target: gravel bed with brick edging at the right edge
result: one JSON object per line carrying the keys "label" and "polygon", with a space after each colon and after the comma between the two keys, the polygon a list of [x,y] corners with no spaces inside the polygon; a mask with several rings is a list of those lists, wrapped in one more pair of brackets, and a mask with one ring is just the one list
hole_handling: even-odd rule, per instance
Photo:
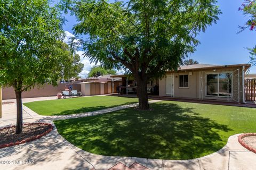
{"label": "gravel bed with brick edging at the right edge", "polygon": [[238,137],[239,143],[256,154],[256,133],[245,133]]}

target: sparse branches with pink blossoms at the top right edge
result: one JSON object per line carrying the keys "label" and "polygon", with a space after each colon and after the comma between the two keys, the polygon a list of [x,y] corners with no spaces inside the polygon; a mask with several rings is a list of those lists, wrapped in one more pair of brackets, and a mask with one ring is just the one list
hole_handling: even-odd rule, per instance
{"label": "sparse branches with pink blossoms at the top right edge", "polygon": [[[243,11],[244,15],[246,15],[249,20],[245,23],[244,26],[239,26],[241,31],[238,33],[244,31],[245,29],[250,29],[253,31],[256,28],[256,1],[255,0],[245,0],[245,2],[242,4],[241,7],[238,9],[239,11]],[[251,63],[253,65],[256,65],[256,46],[254,48],[247,48],[250,50],[251,54]]]}

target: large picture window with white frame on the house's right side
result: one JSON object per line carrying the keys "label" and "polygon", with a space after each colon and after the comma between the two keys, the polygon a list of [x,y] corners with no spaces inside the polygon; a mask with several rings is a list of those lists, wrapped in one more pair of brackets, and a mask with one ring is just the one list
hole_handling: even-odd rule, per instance
{"label": "large picture window with white frame on the house's right side", "polygon": [[207,96],[232,96],[232,73],[216,73],[206,75]]}

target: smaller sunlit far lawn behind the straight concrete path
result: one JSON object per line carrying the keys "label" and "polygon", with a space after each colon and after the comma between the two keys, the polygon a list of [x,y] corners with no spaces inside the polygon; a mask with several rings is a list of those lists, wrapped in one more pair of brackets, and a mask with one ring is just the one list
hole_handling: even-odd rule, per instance
{"label": "smaller sunlit far lawn behind the straight concrete path", "polygon": [[92,96],[80,98],[66,98],[60,100],[45,100],[25,103],[39,115],[69,115],[98,111],[105,108],[132,104],[138,102],[137,98],[115,96]]}

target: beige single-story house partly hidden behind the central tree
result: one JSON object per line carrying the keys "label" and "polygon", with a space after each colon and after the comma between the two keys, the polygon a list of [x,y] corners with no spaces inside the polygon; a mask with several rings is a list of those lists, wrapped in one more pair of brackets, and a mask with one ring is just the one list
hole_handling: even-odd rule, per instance
{"label": "beige single-story house partly hidden behind the central tree", "polygon": [[[178,71],[167,71],[162,79],[149,81],[147,88],[151,87],[152,94],[158,96],[242,103],[245,102],[245,72],[250,66],[250,64],[180,66]],[[132,85],[128,83],[131,80],[127,79],[127,75],[112,77],[121,77],[126,89],[136,86],[135,82]],[[126,90],[126,95],[128,94],[129,90]]]}

